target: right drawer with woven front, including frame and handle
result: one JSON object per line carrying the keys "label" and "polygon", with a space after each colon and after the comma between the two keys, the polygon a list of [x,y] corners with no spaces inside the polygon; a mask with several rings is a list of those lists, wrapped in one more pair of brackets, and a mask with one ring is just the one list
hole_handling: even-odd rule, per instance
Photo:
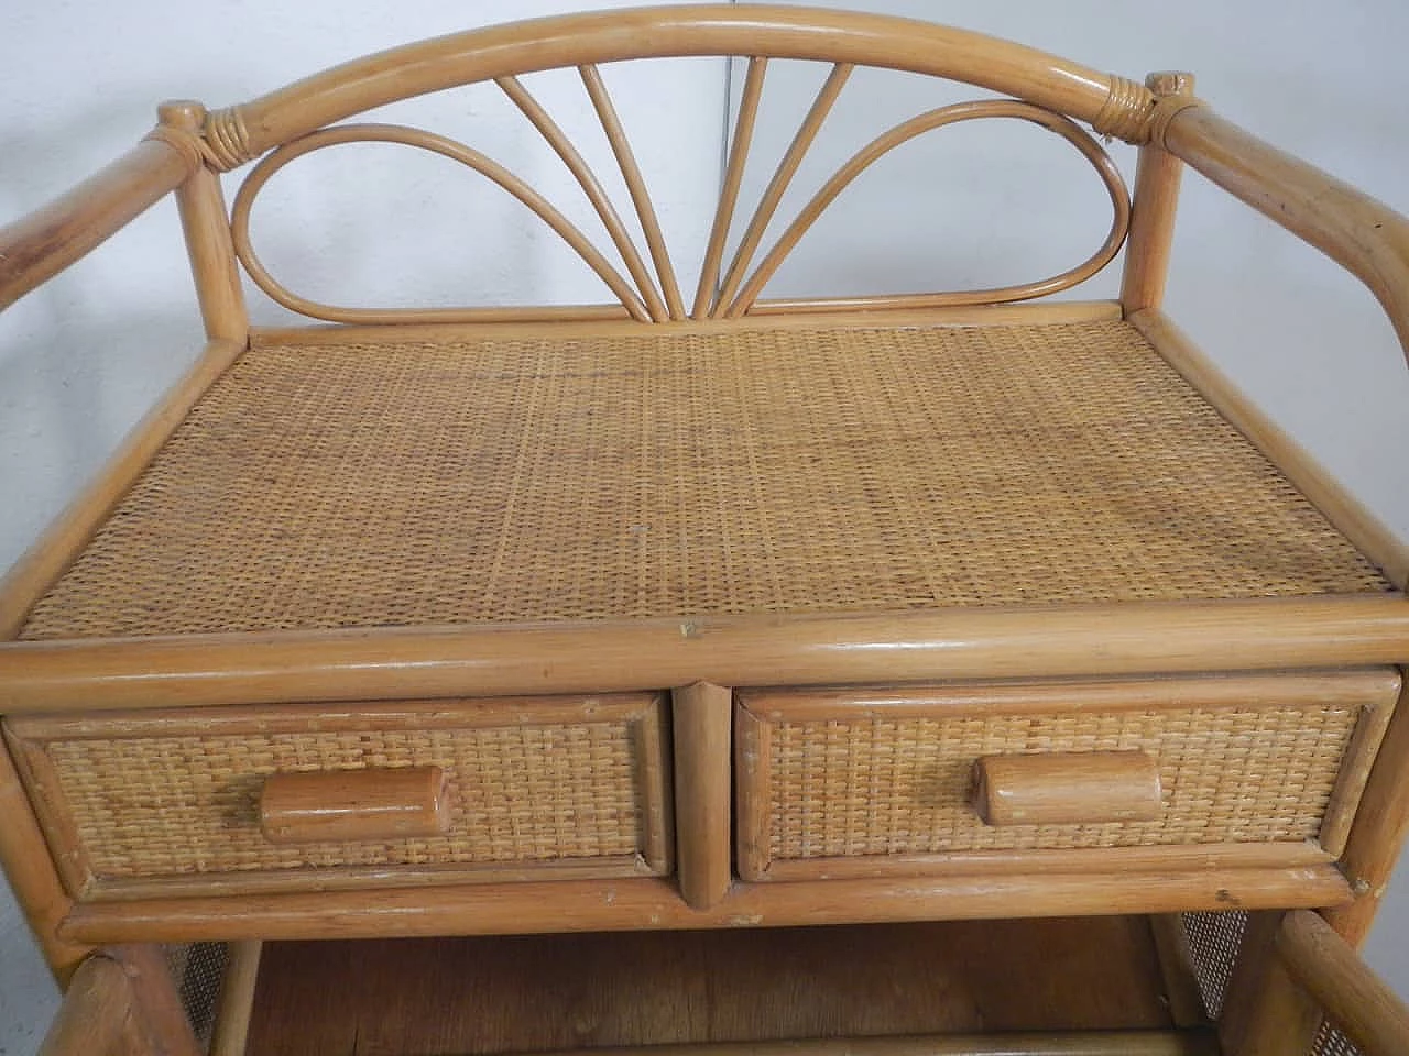
{"label": "right drawer with woven front, including frame and handle", "polygon": [[741,690],[748,880],[1326,862],[1392,670]]}

